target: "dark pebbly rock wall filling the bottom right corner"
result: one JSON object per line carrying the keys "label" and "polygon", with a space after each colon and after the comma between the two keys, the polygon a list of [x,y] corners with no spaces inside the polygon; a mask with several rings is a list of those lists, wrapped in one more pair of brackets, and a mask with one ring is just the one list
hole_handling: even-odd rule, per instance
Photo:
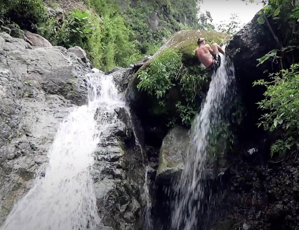
{"label": "dark pebbly rock wall filling the bottom right corner", "polygon": [[223,217],[215,226],[219,229],[298,229],[298,166],[298,158],[268,165],[232,165],[224,175],[228,190],[217,207],[222,209]]}

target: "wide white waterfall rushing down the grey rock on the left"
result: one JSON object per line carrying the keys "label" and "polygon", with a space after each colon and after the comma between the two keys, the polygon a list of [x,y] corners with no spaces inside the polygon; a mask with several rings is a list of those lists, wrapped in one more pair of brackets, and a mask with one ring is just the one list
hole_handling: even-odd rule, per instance
{"label": "wide white waterfall rushing down the grey rock on the left", "polygon": [[[61,123],[48,153],[45,177],[36,178],[1,230],[86,230],[100,224],[89,170],[100,135],[109,126],[107,111],[123,102],[111,76],[93,73],[86,77],[88,105],[74,108]],[[103,111],[100,122],[94,119],[99,107]]]}

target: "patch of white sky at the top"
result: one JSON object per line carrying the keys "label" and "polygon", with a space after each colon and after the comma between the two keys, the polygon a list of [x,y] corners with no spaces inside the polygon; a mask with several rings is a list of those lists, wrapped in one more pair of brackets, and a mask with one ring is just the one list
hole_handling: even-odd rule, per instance
{"label": "patch of white sky at the top", "polygon": [[[255,0],[256,2],[259,0]],[[254,15],[263,8],[262,3],[248,3],[241,0],[203,0],[200,4],[200,11],[210,11],[213,24],[219,24],[220,21],[229,20],[231,13],[237,13],[241,23],[246,24],[251,21]]]}

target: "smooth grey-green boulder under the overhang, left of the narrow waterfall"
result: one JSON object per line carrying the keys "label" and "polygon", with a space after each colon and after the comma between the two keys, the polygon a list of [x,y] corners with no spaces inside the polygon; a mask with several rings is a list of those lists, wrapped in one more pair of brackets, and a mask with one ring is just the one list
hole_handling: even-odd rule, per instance
{"label": "smooth grey-green boulder under the overhang, left of the narrow waterfall", "polygon": [[187,155],[189,129],[176,126],[164,137],[159,155],[157,177],[170,179],[184,168],[184,158]]}

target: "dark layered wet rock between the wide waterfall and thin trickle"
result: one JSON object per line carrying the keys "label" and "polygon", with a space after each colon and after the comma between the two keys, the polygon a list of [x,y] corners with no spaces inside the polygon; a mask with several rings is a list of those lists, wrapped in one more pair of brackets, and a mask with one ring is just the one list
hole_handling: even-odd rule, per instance
{"label": "dark layered wet rock between the wide waterfall and thin trickle", "polygon": [[144,200],[143,151],[135,137],[134,121],[124,107],[103,114],[109,127],[101,134],[96,150],[94,188],[103,224],[115,230],[142,229]]}

